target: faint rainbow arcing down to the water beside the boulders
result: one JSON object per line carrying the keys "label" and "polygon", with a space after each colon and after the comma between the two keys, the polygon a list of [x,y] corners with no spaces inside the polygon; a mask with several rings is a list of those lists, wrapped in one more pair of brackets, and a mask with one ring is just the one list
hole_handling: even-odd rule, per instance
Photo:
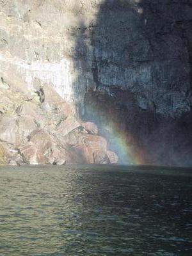
{"label": "faint rainbow arcing down to the water beside the boulders", "polygon": [[[108,104],[105,104],[106,100]],[[88,120],[102,124],[100,135],[108,139],[108,148],[116,153],[119,164],[148,163],[147,150],[138,147],[138,140],[133,134],[129,134],[126,129],[120,129],[122,117],[118,115],[118,111],[113,111],[113,100],[100,92],[90,91],[86,103]]]}

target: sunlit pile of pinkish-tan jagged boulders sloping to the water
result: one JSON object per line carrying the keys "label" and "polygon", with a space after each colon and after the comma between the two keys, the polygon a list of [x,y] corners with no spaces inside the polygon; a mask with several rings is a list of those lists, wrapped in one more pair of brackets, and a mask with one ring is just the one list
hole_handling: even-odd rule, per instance
{"label": "sunlit pile of pinkish-tan jagged boulders sloping to the water", "polygon": [[95,134],[97,125],[77,118],[74,104],[61,99],[51,85],[36,83],[41,97],[27,88],[14,97],[14,83],[0,90],[0,164],[114,163],[113,157],[104,161],[97,156],[108,155],[106,140]]}

